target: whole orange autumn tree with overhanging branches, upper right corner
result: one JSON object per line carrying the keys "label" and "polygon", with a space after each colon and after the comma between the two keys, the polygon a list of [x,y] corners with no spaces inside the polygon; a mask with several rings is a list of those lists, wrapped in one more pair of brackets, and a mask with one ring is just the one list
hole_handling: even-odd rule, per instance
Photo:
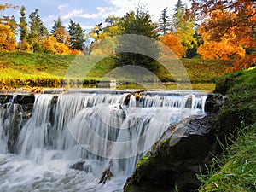
{"label": "whole orange autumn tree with overhanging branches, upper right corner", "polygon": [[[211,49],[211,44],[222,44],[220,49],[241,48],[253,50],[256,48],[256,6],[254,1],[246,0],[192,0],[192,9],[198,20],[203,20],[201,33],[205,44],[203,48]],[[225,43],[225,44],[224,44]],[[227,46],[228,45],[228,46]]]}

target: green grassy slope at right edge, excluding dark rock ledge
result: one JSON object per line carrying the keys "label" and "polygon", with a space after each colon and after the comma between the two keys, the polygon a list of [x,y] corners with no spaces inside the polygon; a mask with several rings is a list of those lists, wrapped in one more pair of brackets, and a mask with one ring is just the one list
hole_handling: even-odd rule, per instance
{"label": "green grassy slope at right edge, excluding dark rock ledge", "polygon": [[[216,91],[228,96],[218,114],[221,129],[228,129],[219,159],[212,160],[208,175],[200,175],[202,192],[256,190],[256,68],[230,73]],[[230,143],[231,144],[228,144]]]}

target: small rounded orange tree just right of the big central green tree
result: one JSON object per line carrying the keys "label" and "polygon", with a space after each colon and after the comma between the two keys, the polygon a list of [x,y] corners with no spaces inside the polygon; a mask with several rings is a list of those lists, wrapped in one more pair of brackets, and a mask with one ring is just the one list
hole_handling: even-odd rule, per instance
{"label": "small rounded orange tree just right of the big central green tree", "polygon": [[[166,46],[169,49],[172,49],[172,51],[179,58],[181,58],[185,54],[185,50],[181,43],[181,39],[179,37],[177,37],[177,35],[175,35],[175,34],[169,33],[169,34],[162,36],[162,38],[160,38],[160,42],[163,44],[166,44]],[[164,52],[162,55],[163,57],[168,56],[168,55],[166,55],[166,53],[168,53],[168,50],[165,50],[165,48],[164,48],[163,52]]]}

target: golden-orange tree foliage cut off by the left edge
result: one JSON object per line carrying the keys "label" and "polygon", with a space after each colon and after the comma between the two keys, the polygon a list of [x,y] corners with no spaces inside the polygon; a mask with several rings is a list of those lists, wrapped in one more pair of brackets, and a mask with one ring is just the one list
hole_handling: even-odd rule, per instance
{"label": "golden-orange tree foliage cut off by the left edge", "polygon": [[17,42],[10,26],[0,23],[0,50],[15,50]]}

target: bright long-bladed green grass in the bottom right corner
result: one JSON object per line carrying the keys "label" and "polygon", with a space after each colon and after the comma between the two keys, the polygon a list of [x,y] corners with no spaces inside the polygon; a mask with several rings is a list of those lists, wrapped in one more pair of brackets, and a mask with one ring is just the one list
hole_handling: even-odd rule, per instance
{"label": "bright long-bladed green grass in the bottom right corner", "polygon": [[[199,176],[201,192],[256,191],[256,124],[242,127],[236,142],[224,148],[221,160],[214,161],[218,171]],[[216,169],[216,168],[215,168]]]}

